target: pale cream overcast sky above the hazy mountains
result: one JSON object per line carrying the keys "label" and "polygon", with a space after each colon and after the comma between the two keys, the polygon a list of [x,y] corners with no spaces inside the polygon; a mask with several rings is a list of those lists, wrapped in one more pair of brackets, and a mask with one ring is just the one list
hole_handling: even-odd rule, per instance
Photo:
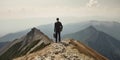
{"label": "pale cream overcast sky above the hazy mountains", "polygon": [[62,17],[119,18],[119,13],[120,0],[0,0],[0,36],[53,23],[56,17],[66,24],[82,20]]}

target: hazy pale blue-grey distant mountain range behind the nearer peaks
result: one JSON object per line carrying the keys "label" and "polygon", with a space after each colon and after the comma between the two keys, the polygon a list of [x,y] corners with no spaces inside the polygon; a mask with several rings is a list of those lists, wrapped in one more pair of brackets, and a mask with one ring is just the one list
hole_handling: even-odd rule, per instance
{"label": "hazy pale blue-grey distant mountain range behind the nearer peaks", "polygon": [[[88,21],[67,24],[63,27],[62,35],[75,33],[91,25],[94,26],[96,29],[103,31],[120,40],[120,23],[112,21]],[[42,25],[38,26],[37,28],[44,32],[48,37],[53,38],[54,24]],[[29,31],[30,29],[27,29],[24,31],[7,34],[0,38],[0,42],[12,41],[16,38],[22,37]]]}

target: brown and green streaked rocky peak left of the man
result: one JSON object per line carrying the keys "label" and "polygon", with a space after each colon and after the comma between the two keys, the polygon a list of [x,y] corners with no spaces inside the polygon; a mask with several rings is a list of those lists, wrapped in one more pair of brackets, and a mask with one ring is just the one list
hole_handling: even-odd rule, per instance
{"label": "brown and green streaked rocky peak left of the man", "polygon": [[44,48],[52,42],[40,30],[33,28],[25,36],[12,41],[1,49],[0,60],[11,60]]}

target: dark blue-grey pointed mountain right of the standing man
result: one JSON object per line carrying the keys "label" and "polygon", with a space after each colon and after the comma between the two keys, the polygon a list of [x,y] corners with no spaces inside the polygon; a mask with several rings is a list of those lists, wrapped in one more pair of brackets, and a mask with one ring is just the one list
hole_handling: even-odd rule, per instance
{"label": "dark blue-grey pointed mountain right of the standing man", "polygon": [[87,44],[110,60],[120,60],[120,41],[90,26],[82,31],[65,35]]}

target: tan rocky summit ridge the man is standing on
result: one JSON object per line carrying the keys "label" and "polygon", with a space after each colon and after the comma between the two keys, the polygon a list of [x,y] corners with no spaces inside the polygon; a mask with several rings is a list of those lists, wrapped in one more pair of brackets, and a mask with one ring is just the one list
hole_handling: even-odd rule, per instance
{"label": "tan rocky summit ridge the man is standing on", "polygon": [[108,60],[91,48],[73,39],[52,43],[43,50],[14,60]]}

